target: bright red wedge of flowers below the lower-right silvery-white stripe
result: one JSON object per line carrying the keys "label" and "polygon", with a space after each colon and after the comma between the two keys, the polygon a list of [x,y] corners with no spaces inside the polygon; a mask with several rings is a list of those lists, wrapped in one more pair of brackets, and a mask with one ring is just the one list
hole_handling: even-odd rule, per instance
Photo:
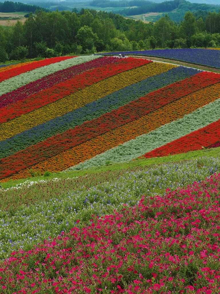
{"label": "bright red wedge of flowers below the lower-right silvery-white stripe", "polygon": [[201,150],[220,137],[220,120],[144,154],[144,157],[167,156]]}

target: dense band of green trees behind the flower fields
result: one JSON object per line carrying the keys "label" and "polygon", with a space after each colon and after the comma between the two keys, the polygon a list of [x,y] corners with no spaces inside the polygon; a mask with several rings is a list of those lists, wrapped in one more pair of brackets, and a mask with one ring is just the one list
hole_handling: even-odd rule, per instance
{"label": "dense band of green trees behind the flower fields", "polygon": [[81,9],[30,13],[22,24],[0,26],[0,62],[37,56],[156,48],[220,47],[220,12],[187,11],[177,24],[167,14],[155,23]]}

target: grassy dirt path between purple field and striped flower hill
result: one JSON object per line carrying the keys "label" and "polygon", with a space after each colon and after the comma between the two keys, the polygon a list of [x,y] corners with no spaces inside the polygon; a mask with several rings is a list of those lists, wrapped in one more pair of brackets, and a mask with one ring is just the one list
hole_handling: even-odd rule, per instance
{"label": "grassy dirt path between purple field and striped flower hill", "polygon": [[203,71],[212,71],[217,74],[220,74],[220,69],[214,69],[213,67],[192,64],[192,63],[187,63],[187,62],[183,62],[183,61],[176,61],[173,59],[165,59],[165,58],[151,57],[151,56],[138,56],[138,55],[135,55],[134,57],[135,58],[144,58],[144,59],[153,60],[153,61],[160,61],[160,62],[165,62],[165,63],[172,63],[172,64],[177,64],[177,65],[192,67],[194,69],[202,69]]}

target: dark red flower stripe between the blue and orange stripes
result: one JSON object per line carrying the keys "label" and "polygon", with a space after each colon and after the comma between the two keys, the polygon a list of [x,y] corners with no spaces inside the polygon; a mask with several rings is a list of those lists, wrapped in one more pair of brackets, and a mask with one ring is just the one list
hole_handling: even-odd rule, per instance
{"label": "dark red flower stripe between the blue and orange stripes", "polygon": [[[0,161],[0,178],[10,176],[13,173],[33,166],[172,103],[194,92],[194,89],[198,88],[197,82],[202,81],[202,77],[207,78],[205,72],[153,91],[99,118],[87,121],[80,126],[18,151],[7,158],[3,158]],[[201,85],[205,84],[206,79],[204,82],[202,81]]]}

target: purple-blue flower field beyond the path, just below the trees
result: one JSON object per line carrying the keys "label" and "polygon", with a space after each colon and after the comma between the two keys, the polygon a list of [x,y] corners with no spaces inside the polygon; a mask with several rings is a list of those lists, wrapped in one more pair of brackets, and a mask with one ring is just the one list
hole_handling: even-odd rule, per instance
{"label": "purple-blue flower field beyond the path, just below the trees", "polygon": [[[115,55],[122,52],[104,53],[106,55]],[[126,51],[125,54],[155,56],[179,61],[186,61],[193,64],[200,64],[214,68],[220,68],[219,50],[207,49],[158,49],[144,51]]]}

